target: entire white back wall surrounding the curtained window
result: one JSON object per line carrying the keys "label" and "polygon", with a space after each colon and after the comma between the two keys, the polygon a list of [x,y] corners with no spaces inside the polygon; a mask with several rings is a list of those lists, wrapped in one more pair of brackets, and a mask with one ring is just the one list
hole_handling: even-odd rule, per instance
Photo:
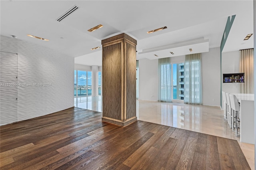
{"label": "entire white back wall surrounding the curtained window", "polygon": [[[211,48],[201,56],[203,105],[220,106],[220,48]],[[171,57],[172,63],[184,61],[185,55]],[[139,99],[158,100],[157,59],[139,60],[139,83]]]}

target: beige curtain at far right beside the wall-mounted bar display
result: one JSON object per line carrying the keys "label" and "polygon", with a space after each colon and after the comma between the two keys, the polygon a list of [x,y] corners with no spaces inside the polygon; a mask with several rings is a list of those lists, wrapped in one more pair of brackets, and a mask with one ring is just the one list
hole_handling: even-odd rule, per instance
{"label": "beige curtain at far right beside the wall-mounted bar display", "polygon": [[240,73],[244,73],[244,83],[240,83],[241,93],[254,93],[254,49],[240,50]]}

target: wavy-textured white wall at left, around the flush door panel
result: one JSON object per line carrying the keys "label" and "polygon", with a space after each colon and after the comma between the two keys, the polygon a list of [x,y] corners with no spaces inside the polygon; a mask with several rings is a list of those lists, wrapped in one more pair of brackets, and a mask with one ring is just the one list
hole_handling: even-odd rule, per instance
{"label": "wavy-textured white wall at left, around the flush door panel", "polygon": [[[17,121],[74,107],[74,58],[4,36],[1,51],[18,53]],[[9,114],[1,112],[0,116]],[[12,122],[0,124],[6,123]]]}

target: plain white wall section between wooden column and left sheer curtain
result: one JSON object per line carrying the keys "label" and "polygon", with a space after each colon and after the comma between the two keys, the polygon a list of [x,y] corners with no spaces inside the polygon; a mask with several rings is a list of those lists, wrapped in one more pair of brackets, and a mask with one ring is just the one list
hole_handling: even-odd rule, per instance
{"label": "plain white wall section between wooden column and left sheer curtain", "polygon": [[139,99],[158,100],[158,60],[139,60]]}

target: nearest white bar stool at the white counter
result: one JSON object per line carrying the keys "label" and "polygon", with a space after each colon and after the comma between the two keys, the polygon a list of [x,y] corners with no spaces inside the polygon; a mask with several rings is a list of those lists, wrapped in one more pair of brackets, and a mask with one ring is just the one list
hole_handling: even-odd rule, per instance
{"label": "nearest white bar stool at the white counter", "polygon": [[238,115],[240,112],[240,104],[235,95],[229,94],[229,97],[230,97],[231,108],[235,112],[233,122],[235,122],[234,128],[235,128],[236,136],[239,136],[240,132],[238,132],[238,128],[240,128],[240,126],[238,127],[238,124],[240,124],[240,120],[238,119]]}

